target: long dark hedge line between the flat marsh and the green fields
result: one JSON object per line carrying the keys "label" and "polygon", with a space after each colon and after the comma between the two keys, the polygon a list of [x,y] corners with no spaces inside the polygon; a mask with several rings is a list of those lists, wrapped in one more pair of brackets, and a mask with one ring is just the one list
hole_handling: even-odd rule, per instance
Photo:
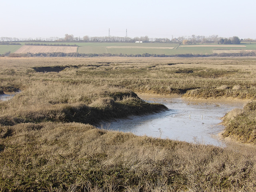
{"label": "long dark hedge line between the flat marsh and the green fields", "polygon": [[256,56],[256,52],[241,52],[241,53],[214,53],[214,54],[174,54],[174,55],[166,55],[166,54],[84,54],[84,53],[62,53],[62,52],[54,52],[54,53],[27,53],[27,54],[16,54],[9,53],[7,55],[3,54],[2,56],[9,57],[242,57],[242,56]]}

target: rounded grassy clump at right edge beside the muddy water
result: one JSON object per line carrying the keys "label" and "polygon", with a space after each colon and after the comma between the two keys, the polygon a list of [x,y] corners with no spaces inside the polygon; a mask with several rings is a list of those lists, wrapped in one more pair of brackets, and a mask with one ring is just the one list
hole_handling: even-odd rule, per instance
{"label": "rounded grassy clump at right edge beside the muddy water", "polygon": [[256,144],[256,102],[249,102],[242,110],[232,110],[224,116],[223,124],[226,127],[224,137]]}

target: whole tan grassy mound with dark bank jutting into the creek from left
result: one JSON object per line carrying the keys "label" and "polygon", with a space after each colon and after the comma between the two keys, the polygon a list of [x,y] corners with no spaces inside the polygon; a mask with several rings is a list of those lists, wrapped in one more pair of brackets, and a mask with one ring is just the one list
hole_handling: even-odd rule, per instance
{"label": "whole tan grassy mound with dark bank jutting into the creek from left", "polygon": [[95,125],[102,120],[167,110],[163,104],[147,103],[127,89],[62,83],[33,84],[10,102],[1,102],[0,109],[1,125],[47,121]]}

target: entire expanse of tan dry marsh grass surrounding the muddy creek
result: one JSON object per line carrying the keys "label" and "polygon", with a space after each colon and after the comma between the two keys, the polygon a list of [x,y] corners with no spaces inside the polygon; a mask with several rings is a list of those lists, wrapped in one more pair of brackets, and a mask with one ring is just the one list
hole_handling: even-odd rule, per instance
{"label": "entire expanse of tan dry marsh grass surrounding the muddy creek", "polygon": [[[166,109],[134,92],[253,100],[255,64],[256,58],[0,58],[0,91],[22,90],[0,102],[0,189],[255,191],[255,150],[92,126]],[[254,104],[225,118],[239,127],[228,134],[253,142]]]}

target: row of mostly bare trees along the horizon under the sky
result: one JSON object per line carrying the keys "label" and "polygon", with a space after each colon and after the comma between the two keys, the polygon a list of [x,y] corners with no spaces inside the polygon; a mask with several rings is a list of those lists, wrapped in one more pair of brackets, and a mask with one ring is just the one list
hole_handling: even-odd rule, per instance
{"label": "row of mostly bare trees along the horizon under the sky", "polygon": [[72,34],[65,34],[64,38],[50,37],[50,38],[10,38],[0,37],[0,42],[175,42],[183,44],[204,44],[204,43],[216,43],[216,44],[240,44],[241,41],[253,42],[256,39],[239,39],[237,36],[230,38],[219,37],[218,35],[211,36],[180,36],[178,38],[149,38],[148,36],[141,37],[118,37],[118,36],[83,36],[74,37]]}

